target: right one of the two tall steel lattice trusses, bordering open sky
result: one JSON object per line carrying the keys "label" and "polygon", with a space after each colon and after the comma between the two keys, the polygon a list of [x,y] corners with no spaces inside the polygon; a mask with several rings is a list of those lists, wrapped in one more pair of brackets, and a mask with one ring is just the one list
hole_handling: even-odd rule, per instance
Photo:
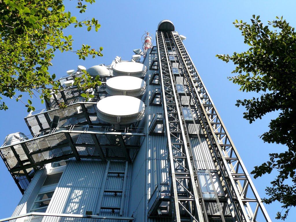
{"label": "right one of the two tall steel lattice trusses, bordering open sky", "polygon": [[171,35],[234,221],[255,222],[258,211],[271,221],[183,42],[178,34]]}

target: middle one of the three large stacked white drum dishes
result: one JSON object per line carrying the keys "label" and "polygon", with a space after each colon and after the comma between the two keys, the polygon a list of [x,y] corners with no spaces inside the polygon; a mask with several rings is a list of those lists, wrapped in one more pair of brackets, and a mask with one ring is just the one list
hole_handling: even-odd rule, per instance
{"label": "middle one of the three large stacked white drum dishes", "polygon": [[144,94],[146,83],[134,76],[117,76],[107,80],[107,93],[110,95],[140,96]]}

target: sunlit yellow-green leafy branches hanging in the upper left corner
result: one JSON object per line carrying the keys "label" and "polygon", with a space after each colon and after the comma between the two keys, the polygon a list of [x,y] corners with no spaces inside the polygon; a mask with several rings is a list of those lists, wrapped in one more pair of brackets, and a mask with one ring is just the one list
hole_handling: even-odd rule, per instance
{"label": "sunlit yellow-green leafy branches hanging in the upper left corner", "polygon": [[[80,13],[86,10],[82,2],[78,0]],[[92,4],[95,1],[85,2]],[[35,110],[32,102],[25,103],[18,93],[26,92],[31,98],[36,96],[43,103],[52,89],[56,92],[61,89],[55,75],[49,75],[47,71],[56,50],[74,52],[83,60],[89,55],[93,58],[103,56],[102,47],[95,50],[83,44],[81,49],[73,50],[72,36],[64,35],[65,28],[74,25],[98,31],[101,25],[94,18],[78,21],[65,11],[62,3],[62,0],[0,0],[0,94],[23,102],[28,112]],[[92,81],[87,73],[79,80],[84,82],[79,86],[81,90],[100,84],[98,79]],[[75,82],[79,80],[77,78]],[[1,100],[0,96],[0,109],[7,110]]]}

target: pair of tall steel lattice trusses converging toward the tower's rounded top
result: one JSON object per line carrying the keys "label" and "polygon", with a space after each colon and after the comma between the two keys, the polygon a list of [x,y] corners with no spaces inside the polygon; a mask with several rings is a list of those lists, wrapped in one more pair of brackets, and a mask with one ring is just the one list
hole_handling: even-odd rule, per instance
{"label": "pair of tall steel lattice trusses converging toward the tower's rounded top", "polygon": [[[191,216],[192,221],[201,221],[202,216],[192,165],[189,159],[190,147],[187,145],[184,126],[182,125],[181,106],[176,96],[164,34],[168,36],[167,38],[176,47],[176,53],[180,62],[179,68],[182,68],[185,80],[189,89],[191,89],[191,97],[199,112],[201,125],[221,184],[224,187],[233,220],[239,222],[256,221],[257,214],[261,211],[265,220],[271,221],[179,35],[176,32],[157,31],[156,39],[160,61],[163,106],[165,109],[165,126],[168,134],[170,182],[176,211],[174,219],[176,221],[184,221],[184,215],[180,213],[184,209]],[[180,190],[178,186],[180,185],[186,191],[188,198],[184,199],[184,201],[182,199],[183,194],[178,192]]]}

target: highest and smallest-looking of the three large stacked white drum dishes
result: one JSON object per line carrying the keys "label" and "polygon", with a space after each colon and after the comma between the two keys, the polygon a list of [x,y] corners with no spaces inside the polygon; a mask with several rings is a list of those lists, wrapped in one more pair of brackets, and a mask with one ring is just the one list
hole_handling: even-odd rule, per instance
{"label": "highest and smallest-looking of the three large stacked white drum dishes", "polygon": [[143,77],[146,74],[146,66],[139,62],[120,62],[112,67],[113,75],[131,75],[135,77]]}

